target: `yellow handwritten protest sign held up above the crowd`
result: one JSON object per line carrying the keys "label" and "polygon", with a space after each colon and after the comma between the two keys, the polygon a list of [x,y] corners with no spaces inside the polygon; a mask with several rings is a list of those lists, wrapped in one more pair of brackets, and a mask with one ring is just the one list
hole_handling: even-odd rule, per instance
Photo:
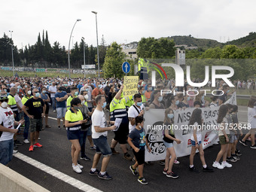
{"label": "yellow handwritten protest sign held up above the crowd", "polygon": [[123,78],[123,96],[134,96],[138,92],[138,76],[125,76]]}

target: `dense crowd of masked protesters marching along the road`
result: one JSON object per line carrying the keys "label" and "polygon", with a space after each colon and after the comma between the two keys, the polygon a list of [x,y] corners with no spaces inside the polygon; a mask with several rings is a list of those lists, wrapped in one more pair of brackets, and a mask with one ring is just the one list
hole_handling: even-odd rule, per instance
{"label": "dense crowd of masked protesters marching along the road", "polygon": [[[198,80],[194,80],[197,82]],[[238,89],[255,88],[255,82],[249,80],[236,81]],[[211,82],[207,84],[211,86]],[[194,166],[194,155],[197,149],[200,152],[202,169],[213,172],[206,165],[203,153],[202,136],[198,126],[203,124],[202,110],[200,108],[212,108],[220,106],[218,111],[219,127],[224,123],[229,126],[218,132],[221,151],[213,167],[224,169],[232,167],[232,163],[239,160],[241,152],[236,148],[237,142],[247,146],[246,139],[251,138],[251,148],[255,149],[254,134],[256,128],[256,99],[251,96],[248,102],[248,123],[251,129],[243,139],[239,140],[242,133],[233,130],[238,122],[236,105],[224,104],[227,96],[231,95],[230,87],[224,81],[217,81],[217,89],[223,93],[219,96],[205,98],[204,92],[196,87],[191,87],[184,81],[184,87],[175,87],[174,80],[159,80],[156,87],[152,87],[151,81],[139,81],[138,93],[134,96],[123,96],[123,79],[118,78],[1,78],[0,81],[0,163],[7,165],[12,154],[17,153],[19,145],[28,145],[29,151],[41,148],[39,143],[40,132],[44,129],[57,127],[58,130],[66,129],[67,138],[72,144],[72,169],[81,173],[83,166],[81,160],[90,160],[86,155],[86,139],[90,142],[90,149],[95,150],[90,175],[98,175],[102,179],[111,179],[107,167],[111,154],[120,152],[115,150],[120,144],[121,152],[125,160],[134,160],[130,166],[133,175],[139,175],[138,181],[148,184],[144,175],[145,148],[151,151],[143,128],[145,119],[143,115],[151,108],[165,109],[164,123],[174,123],[174,111],[184,108],[195,108],[190,117],[189,124],[194,126],[191,136],[191,154],[189,169],[191,172],[199,172]],[[161,90],[170,90],[170,93],[162,94]],[[184,95],[185,90],[189,95]],[[191,96],[198,90],[197,96]],[[180,92],[173,95],[173,91]],[[56,113],[56,124],[48,123],[49,110]],[[62,124],[61,124],[62,120]],[[120,120],[118,126],[115,122]],[[16,126],[23,126],[23,141],[17,139]],[[114,138],[108,144],[108,131],[114,130]],[[30,133],[30,135],[29,135]],[[164,167],[163,174],[169,178],[178,178],[172,170],[173,163],[179,163],[173,142],[181,143],[175,138],[174,130],[163,131],[163,143],[166,146],[166,159],[160,164]],[[128,152],[133,149],[133,154]],[[99,158],[103,156],[102,167],[97,169]],[[222,163],[219,161],[223,159]],[[229,161],[229,163],[227,162]]]}

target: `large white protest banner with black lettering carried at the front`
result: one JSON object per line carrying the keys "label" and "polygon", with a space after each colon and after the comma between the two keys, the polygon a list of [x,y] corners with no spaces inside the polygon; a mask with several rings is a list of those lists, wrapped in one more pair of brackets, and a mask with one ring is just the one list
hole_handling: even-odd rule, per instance
{"label": "large white protest banner with black lettering carried at the front", "polygon": [[[225,103],[236,105],[236,92]],[[181,144],[173,142],[177,157],[190,154],[192,130],[189,130],[189,123],[192,112],[195,108],[186,108],[174,111],[175,137],[181,140]],[[203,116],[202,144],[203,148],[208,148],[218,141],[218,109],[201,108]],[[151,147],[151,154],[145,151],[145,161],[163,160],[166,156],[166,147],[163,145],[163,120],[164,109],[150,109],[145,111],[144,128],[148,144]]]}

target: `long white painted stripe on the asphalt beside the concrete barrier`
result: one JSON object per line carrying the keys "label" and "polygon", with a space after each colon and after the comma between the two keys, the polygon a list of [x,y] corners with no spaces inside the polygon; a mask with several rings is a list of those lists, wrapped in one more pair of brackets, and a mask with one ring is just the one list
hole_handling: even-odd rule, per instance
{"label": "long white painted stripe on the asphalt beside the concrete barrier", "polygon": [[71,184],[72,186],[80,190],[87,192],[102,191],[95,187],[90,186],[89,184],[79,181],[76,178],[72,178],[69,175],[59,172],[56,169],[51,168],[50,166],[44,165],[43,163],[40,163],[37,160],[33,160],[32,158],[27,157],[24,154],[17,153],[14,154],[14,157],[17,157],[18,159],[23,160],[26,163],[29,163],[30,165],[35,166],[36,168],[41,169],[42,171],[47,172],[48,174],[53,175],[54,177],[59,178],[60,180],[66,182],[67,184]]}

